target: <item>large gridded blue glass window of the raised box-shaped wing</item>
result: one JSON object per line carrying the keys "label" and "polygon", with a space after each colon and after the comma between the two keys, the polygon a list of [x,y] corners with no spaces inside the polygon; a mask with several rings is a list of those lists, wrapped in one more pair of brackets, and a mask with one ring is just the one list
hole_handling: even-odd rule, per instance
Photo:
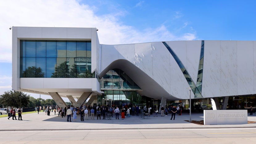
{"label": "large gridded blue glass window of the raised box-shaped wing", "polygon": [[20,40],[21,78],[93,78],[91,41]]}

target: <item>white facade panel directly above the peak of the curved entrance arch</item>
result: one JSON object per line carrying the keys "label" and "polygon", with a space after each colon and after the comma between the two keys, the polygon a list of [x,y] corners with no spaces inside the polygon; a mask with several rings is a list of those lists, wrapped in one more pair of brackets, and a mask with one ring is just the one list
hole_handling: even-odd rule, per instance
{"label": "white facade panel directly above the peak of the curved entrance arch", "polygon": [[131,63],[135,63],[134,57],[134,44],[121,44],[118,45],[118,59],[126,59]]}

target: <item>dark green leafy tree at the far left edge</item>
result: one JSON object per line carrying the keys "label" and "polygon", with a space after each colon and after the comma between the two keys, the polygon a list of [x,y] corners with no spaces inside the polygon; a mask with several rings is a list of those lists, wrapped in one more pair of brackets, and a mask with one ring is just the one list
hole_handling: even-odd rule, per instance
{"label": "dark green leafy tree at the far left edge", "polygon": [[29,94],[19,91],[7,91],[0,96],[1,104],[5,106],[14,106],[16,108],[27,107],[29,104]]}

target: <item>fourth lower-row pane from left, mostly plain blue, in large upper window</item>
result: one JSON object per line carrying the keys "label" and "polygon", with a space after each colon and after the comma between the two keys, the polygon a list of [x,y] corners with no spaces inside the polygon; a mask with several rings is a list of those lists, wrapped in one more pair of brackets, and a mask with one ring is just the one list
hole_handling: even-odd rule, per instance
{"label": "fourth lower-row pane from left, mostly plain blue, in large upper window", "polygon": [[56,58],[46,58],[46,78],[56,78]]}

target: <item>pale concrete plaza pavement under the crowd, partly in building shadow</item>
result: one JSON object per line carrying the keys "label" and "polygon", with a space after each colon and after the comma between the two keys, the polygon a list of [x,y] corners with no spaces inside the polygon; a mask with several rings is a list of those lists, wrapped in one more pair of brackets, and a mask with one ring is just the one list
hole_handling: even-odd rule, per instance
{"label": "pale concrete plaza pavement under the crowd, partly in building shadow", "polygon": [[[56,113],[57,114],[57,113]],[[250,116],[248,113],[248,121],[256,121],[256,113]],[[140,116],[131,116],[124,120],[115,119],[102,119],[80,121],[80,116],[77,116],[77,121],[67,122],[67,117],[54,115],[45,115],[44,112],[31,113],[22,115],[21,120],[12,120],[7,117],[0,118],[0,131],[42,131],[42,130],[115,130],[115,129],[200,129],[200,128],[256,128],[256,123],[252,124],[239,124],[239,125],[197,125],[189,123],[184,120],[189,120],[188,114],[176,115],[175,120],[170,120],[171,115],[158,117],[151,115],[143,119]],[[17,116],[18,119],[18,116]],[[203,113],[192,113],[192,120],[203,120]]]}

